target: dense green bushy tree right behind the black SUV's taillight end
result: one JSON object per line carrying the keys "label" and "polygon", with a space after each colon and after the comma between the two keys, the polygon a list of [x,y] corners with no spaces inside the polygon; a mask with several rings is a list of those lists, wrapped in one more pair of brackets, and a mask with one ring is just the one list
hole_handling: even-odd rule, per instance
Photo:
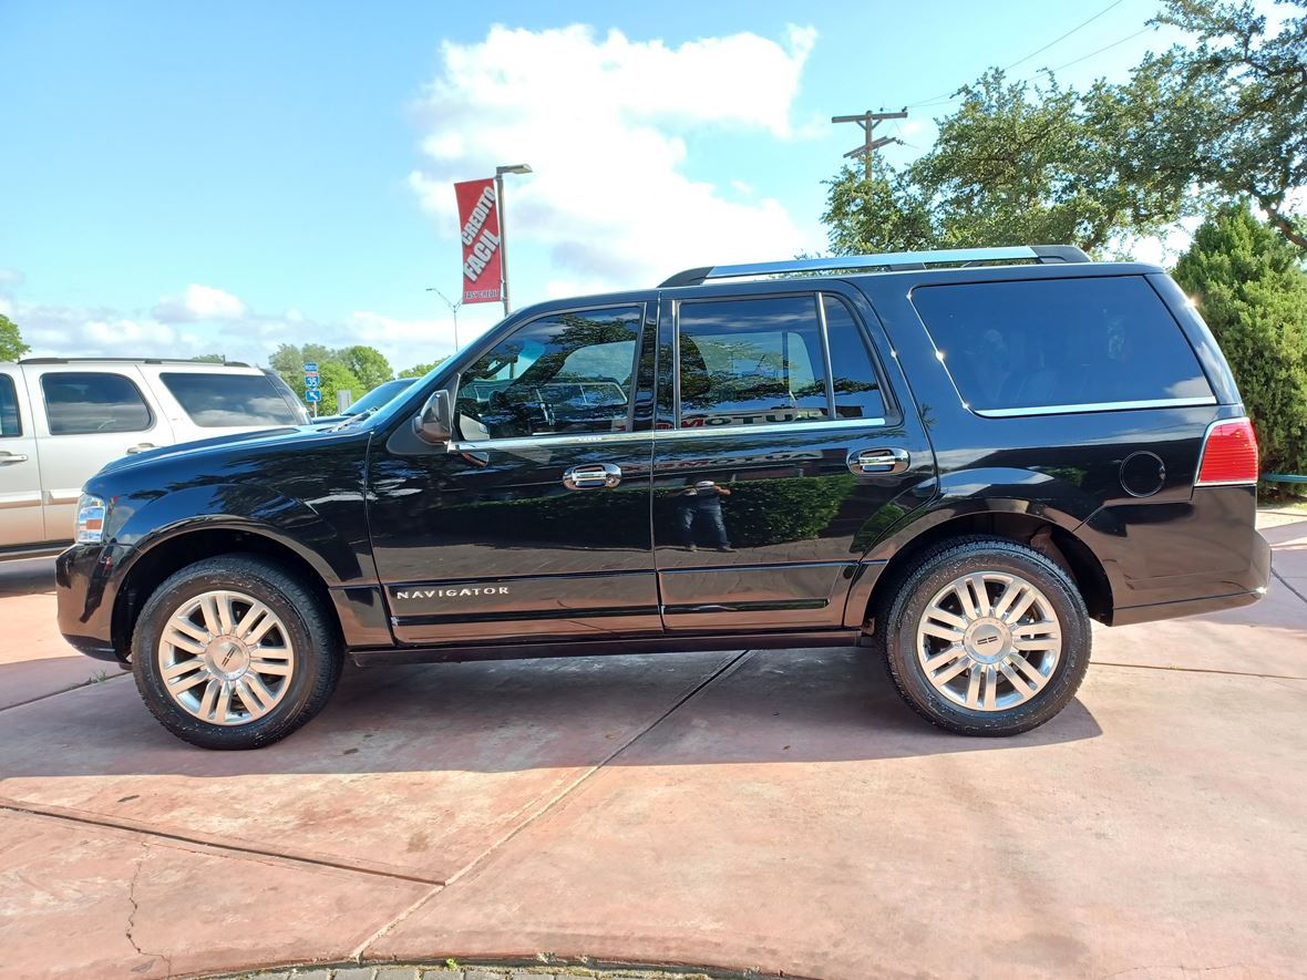
{"label": "dense green bushy tree right behind the black SUV's taillight end", "polygon": [[1307,273],[1298,257],[1239,201],[1204,222],[1175,268],[1230,362],[1266,472],[1307,473]]}

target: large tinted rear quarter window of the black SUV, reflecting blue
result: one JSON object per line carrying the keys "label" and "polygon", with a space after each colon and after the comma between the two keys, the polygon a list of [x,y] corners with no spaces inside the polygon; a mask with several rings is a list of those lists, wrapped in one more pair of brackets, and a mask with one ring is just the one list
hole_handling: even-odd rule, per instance
{"label": "large tinted rear quarter window of the black SUV, reflecting blue", "polygon": [[1141,276],[920,286],[912,303],[975,412],[1213,397]]}

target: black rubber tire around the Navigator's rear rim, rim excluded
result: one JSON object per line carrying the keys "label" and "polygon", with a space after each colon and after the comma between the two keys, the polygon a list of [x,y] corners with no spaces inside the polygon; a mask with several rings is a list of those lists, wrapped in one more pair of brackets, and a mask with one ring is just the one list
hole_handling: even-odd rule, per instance
{"label": "black rubber tire around the Navigator's rear rim, rim excluded", "polygon": [[[1026,700],[997,711],[974,710],[945,696],[918,657],[918,626],[932,600],[957,579],[985,571],[1016,574],[1034,585],[1061,627],[1060,656],[1044,686]],[[925,551],[897,584],[890,584],[877,609],[876,635],[890,676],[912,710],[940,728],[967,736],[1019,734],[1057,715],[1085,678],[1093,638],[1085,600],[1060,566],[1025,545],[987,537],[954,538]],[[1001,683],[1014,690],[1010,682]]]}

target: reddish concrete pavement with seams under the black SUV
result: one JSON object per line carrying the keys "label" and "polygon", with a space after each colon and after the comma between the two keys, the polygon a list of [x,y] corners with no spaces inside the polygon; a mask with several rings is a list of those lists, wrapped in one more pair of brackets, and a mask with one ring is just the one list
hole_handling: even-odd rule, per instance
{"label": "reddish concrete pavement with seams under the black SUV", "polygon": [[1264,521],[1270,596],[1097,630],[1077,700],[1002,741],[834,649],[352,670],[286,742],[204,753],[0,566],[0,977],[1299,976],[1307,520]]}

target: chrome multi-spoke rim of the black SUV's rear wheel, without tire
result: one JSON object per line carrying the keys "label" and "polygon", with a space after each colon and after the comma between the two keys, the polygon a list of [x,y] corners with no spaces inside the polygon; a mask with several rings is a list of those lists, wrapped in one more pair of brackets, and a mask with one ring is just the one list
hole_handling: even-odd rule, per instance
{"label": "chrome multi-spoke rim of the black SUV's rear wheel, without tire", "polygon": [[954,579],[916,627],[916,656],[931,686],[974,711],[1004,711],[1039,694],[1057,668],[1061,644],[1052,604],[1009,572]]}

